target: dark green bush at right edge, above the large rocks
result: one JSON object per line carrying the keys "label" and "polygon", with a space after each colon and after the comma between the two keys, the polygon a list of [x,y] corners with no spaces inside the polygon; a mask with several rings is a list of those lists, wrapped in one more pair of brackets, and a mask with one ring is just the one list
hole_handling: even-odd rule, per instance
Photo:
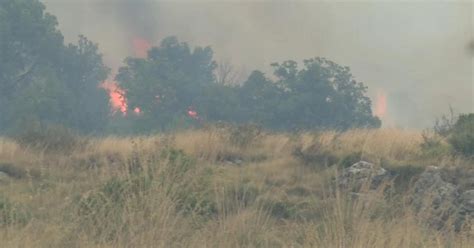
{"label": "dark green bush at right edge, above the large rocks", "polygon": [[474,156],[474,114],[460,115],[454,124],[448,142],[465,156]]}

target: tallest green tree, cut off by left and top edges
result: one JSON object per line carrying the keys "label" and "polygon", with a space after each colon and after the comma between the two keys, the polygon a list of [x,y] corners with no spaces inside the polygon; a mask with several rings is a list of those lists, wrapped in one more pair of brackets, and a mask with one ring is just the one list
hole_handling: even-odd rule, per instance
{"label": "tallest green tree, cut off by left and top edges", "polygon": [[[37,94],[35,90],[41,88],[41,84],[46,86],[57,81],[49,69],[59,58],[63,43],[56,25],[56,19],[44,13],[44,6],[38,1],[0,2],[1,128],[12,125],[21,113],[17,109],[19,97],[26,97],[27,91]],[[33,85],[34,81],[37,85]],[[23,99],[32,104],[36,101]]]}

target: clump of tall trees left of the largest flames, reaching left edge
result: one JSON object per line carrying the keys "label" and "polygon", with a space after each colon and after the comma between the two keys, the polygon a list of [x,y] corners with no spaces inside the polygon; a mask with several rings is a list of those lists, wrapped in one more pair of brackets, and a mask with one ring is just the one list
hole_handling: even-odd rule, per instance
{"label": "clump of tall trees left of the largest flames, reaching left edge", "polygon": [[44,9],[38,0],[0,2],[0,130],[32,120],[98,130],[108,109],[98,85],[108,69],[85,37],[65,46]]}

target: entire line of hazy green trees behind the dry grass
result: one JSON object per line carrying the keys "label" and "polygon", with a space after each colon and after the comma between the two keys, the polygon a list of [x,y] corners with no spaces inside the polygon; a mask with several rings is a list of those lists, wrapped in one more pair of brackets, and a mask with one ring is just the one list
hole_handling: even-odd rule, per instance
{"label": "entire line of hazy green trees behind the dry grass", "polygon": [[[216,77],[211,47],[168,37],[146,58],[129,57],[115,80],[139,115],[110,114],[110,74],[97,44],[65,44],[38,0],[0,2],[0,131],[31,122],[82,133],[152,132],[205,123],[255,123],[275,130],[379,127],[367,87],[348,67],[315,57],[255,70],[241,84]],[[189,116],[193,111],[197,116]],[[133,112],[133,111],[132,111]]]}

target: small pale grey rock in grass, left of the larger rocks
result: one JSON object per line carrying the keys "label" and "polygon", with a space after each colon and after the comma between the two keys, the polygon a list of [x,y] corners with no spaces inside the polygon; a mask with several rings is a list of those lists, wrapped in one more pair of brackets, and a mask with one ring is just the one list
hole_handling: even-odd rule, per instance
{"label": "small pale grey rock in grass, left of the larger rocks", "polygon": [[387,170],[372,163],[360,161],[344,169],[337,183],[341,187],[351,187],[357,191],[367,183],[370,184],[370,189],[375,189],[387,179],[390,179]]}

